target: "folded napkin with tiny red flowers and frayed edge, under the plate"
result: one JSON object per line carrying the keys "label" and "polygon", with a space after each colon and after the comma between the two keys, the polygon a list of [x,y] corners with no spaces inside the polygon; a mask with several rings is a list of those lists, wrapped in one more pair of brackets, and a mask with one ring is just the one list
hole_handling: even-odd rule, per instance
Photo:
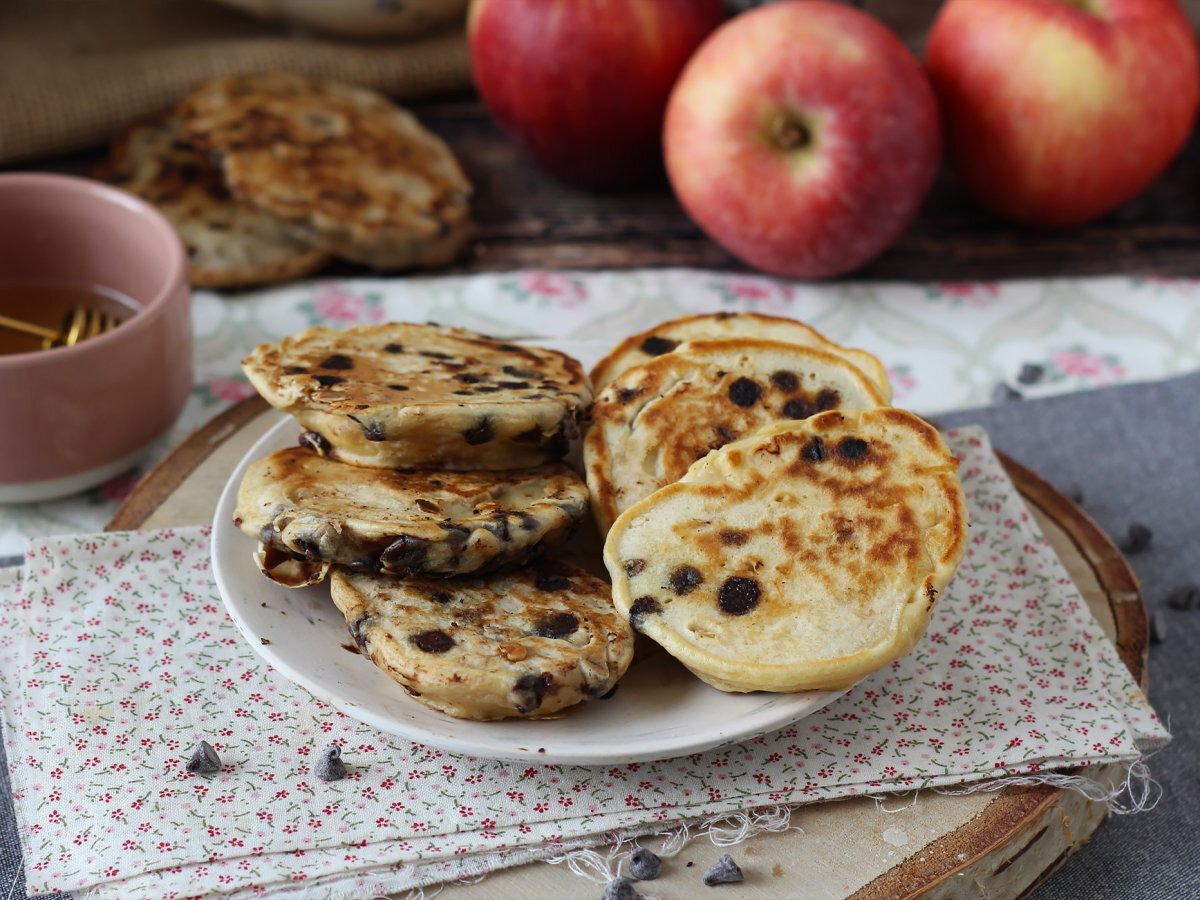
{"label": "folded napkin with tiny red flowers and frayed edge, under the plate", "polygon": [[[986,437],[967,428],[950,443],[971,541],[918,649],[791,727],[652,763],[476,760],[342,715],[244,644],[208,529],[37,540],[20,577],[0,581],[29,889],[362,896],[614,832],[1130,763],[1165,743]],[[185,768],[199,739],[224,763],[209,779]],[[330,744],[343,781],[313,775]]]}

